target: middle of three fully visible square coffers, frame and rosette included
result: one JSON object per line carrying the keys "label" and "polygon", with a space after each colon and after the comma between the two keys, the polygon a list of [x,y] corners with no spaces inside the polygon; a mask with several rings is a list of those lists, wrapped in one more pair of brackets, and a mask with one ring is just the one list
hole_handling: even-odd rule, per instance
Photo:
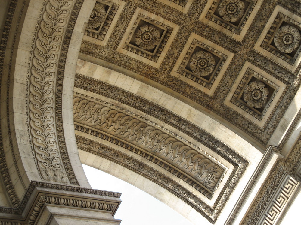
{"label": "middle of three fully visible square coffers, frame and rosette included", "polygon": [[172,75],[212,95],[234,54],[191,33]]}

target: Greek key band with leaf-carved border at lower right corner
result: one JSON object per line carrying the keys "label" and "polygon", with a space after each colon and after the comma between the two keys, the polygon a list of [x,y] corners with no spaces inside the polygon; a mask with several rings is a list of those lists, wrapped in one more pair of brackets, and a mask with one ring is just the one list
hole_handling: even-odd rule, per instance
{"label": "Greek key band with leaf-carved border at lower right corner", "polygon": [[[276,224],[275,221],[278,221],[279,215],[283,213],[281,207],[287,207],[287,199],[293,196],[300,185],[299,179],[292,176],[296,173],[300,161],[301,140],[299,139],[287,159],[277,162],[241,224],[251,225],[259,220],[263,224],[264,222]],[[273,200],[270,201],[272,197]]]}

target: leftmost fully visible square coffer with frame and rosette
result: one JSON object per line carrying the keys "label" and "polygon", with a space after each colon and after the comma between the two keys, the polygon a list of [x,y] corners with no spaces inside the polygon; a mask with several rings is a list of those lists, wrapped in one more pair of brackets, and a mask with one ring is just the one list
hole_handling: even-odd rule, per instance
{"label": "leftmost fully visible square coffer with frame and rosette", "polygon": [[117,51],[159,68],[178,28],[166,19],[137,8]]}

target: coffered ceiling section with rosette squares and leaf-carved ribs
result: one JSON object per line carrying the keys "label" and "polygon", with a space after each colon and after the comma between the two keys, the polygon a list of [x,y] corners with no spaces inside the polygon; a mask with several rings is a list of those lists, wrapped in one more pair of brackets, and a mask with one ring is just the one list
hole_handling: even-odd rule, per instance
{"label": "coffered ceiling section with rosette squares and leaf-carved ribs", "polygon": [[96,1],[80,58],[165,90],[263,147],[299,87],[295,4]]}

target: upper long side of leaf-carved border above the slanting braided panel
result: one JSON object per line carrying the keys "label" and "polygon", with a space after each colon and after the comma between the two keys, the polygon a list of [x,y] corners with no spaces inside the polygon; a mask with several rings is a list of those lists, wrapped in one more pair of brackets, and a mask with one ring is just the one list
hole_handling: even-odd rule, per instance
{"label": "upper long side of leaf-carved border above the slanting braided panel", "polygon": [[[80,74],[77,74],[75,77],[75,87],[94,92],[98,95],[106,96],[123,104],[134,107],[143,113],[147,113],[148,115],[158,118],[164,123],[179,129],[188,136],[193,137],[195,140],[209,147],[214,152],[224,155],[224,158],[226,158],[228,161],[232,161],[234,164],[242,165],[243,167],[247,167],[248,165],[244,158],[203,129],[145,98],[132,94],[131,92],[125,91],[116,86],[109,85],[105,82],[88,78]],[[122,98],[120,98],[121,96]],[[85,98],[85,96],[82,98]]]}

